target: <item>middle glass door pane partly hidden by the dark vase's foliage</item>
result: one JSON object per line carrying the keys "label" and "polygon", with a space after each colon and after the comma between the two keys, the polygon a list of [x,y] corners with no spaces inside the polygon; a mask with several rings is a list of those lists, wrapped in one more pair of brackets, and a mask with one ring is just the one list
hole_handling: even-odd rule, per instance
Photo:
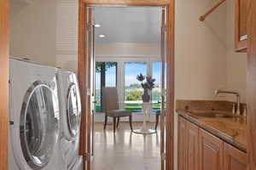
{"label": "middle glass door pane partly hidden by the dark vase's foliage", "polygon": [[140,73],[147,76],[146,62],[126,62],[125,63],[125,109],[127,111],[140,112],[142,106],[143,88],[141,82],[137,80]]}

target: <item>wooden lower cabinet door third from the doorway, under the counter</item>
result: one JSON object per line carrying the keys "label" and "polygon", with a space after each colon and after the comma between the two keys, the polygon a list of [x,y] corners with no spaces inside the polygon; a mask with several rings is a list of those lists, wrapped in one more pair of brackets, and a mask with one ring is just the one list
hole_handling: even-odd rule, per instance
{"label": "wooden lower cabinet door third from the doorway, under the counter", "polygon": [[199,169],[223,170],[224,142],[206,131],[199,130]]}

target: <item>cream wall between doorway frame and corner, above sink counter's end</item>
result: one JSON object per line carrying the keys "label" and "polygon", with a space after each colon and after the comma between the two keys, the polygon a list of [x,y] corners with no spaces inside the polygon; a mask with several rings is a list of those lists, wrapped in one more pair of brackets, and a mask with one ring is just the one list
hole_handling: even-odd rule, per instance
{"label": "cream wall between doorway frame and corner, above sink counter's end", "polygon": [[205,22],[201,14],[217,0],[179,0],[176,4],[176,98],[215,99],[213,91],[226,87],[225,6]]}

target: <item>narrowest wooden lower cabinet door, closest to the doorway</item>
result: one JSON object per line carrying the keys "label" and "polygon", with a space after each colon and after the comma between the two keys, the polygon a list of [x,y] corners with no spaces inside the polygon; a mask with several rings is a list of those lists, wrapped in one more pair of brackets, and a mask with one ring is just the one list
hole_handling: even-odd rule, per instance
{"label": "narrowest wooden lower cabinet door, closest to the doorway", "polygon": [[177,141],[177,161],[178,170],[186,170],[186,150],[187,150],[187,125],[186,120],[183,117],[178,116],[177,120],[177,131],[178,131],[178,141]]}

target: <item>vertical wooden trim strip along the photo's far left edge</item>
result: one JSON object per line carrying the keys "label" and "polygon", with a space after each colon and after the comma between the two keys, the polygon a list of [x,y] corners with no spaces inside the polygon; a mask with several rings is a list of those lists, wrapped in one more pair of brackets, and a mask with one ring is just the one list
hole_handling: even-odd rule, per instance
{"label": "vertical wooden trim strip along the photo's far left edge", "polygon": [[9,0],[0,0],[0,169],[8,169]]}

